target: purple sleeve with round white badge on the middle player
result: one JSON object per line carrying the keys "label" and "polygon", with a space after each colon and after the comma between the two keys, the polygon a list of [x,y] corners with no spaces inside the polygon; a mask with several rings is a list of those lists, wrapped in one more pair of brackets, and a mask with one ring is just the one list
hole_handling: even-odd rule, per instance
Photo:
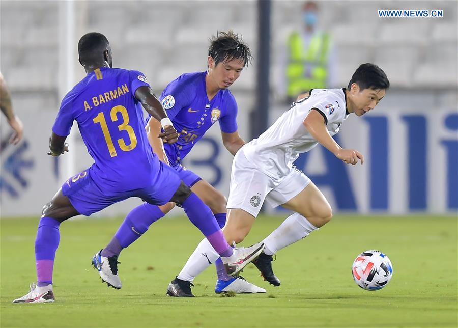
{"label": "purple sleeve with round white badge on the middle player", "polygon": [[168,86],[165,87],[164,91],[162,91],[160,101],[170,120],[173,120],[182,108],[191,104],[193,99],[191,98],[191,94],[194,94],[192,90],[193,87],[193,83],[186,83],[184,78],[180,76],[171,81]]}

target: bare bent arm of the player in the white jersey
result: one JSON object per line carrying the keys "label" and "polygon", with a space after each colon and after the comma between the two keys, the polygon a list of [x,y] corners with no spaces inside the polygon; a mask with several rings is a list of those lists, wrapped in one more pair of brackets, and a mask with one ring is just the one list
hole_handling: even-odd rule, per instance
{"label": "bare bent arm of the player in the white jersey", "polygon": [[355,165],[358,162],[358,158],[361,164],[364,163],[364,156],[359,151],[355,149],[343,149],[332,138],[326,128],[325,118],[318,109],[312,108],[303,121],[303,124],[310,135],[337,158],[347,164]]}

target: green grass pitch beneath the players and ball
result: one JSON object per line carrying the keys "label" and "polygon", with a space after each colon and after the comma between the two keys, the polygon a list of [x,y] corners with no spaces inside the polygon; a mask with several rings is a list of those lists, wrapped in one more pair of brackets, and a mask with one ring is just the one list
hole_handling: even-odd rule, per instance
{"label": "green grass pitch beneath the players and ball", "polygon": [[[283,217],[259,217],[243,244],[263,239]],[[195,280],[195,298],[165,295],[201,240],[186,218],[155,223],[120,257],[121,290],[101,284],[90,266],[121,219],[84,218],[61,226],[54,267],[56,302],[13,305],[35,278],[38,219],[2,219],[2,327],[456,327],[457,219],[432,216],[336,216],[309,237],[281,250],[273,262],[280,287],[264,282],[253,265],[243,276],[267,294],[221,297],[215,271]],[[362,251],[385,252],[391,282],[365,291],[352,279]]]}

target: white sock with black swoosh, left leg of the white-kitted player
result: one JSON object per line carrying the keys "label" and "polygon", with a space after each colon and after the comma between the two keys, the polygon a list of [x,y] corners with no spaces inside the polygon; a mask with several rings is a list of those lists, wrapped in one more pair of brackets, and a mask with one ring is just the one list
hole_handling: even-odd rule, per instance
{"label": "white sock with black swoosh, left leg of the white-kitted player", "polygon": [[192,282],[197,275],[201,274],[206,268],[219,258],[219,254],[212,247],[207,238],[203,239],[194,252],[189,257],[183,269],[181,269],[178,279]]}

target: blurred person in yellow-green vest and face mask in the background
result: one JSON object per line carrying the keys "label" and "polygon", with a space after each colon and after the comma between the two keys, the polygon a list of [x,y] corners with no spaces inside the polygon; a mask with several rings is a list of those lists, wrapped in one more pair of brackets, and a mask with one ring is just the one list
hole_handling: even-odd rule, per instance
{"label": "blurred person in yellow-green vest and face mask in the background", "polygon": [[302,6],[302,29],[293,31],[282,56],[283,95],[295,100],[297,95],[310,89],[336,87],[335,50],[327,32],[317,29],[318,6],[306,2]]}

